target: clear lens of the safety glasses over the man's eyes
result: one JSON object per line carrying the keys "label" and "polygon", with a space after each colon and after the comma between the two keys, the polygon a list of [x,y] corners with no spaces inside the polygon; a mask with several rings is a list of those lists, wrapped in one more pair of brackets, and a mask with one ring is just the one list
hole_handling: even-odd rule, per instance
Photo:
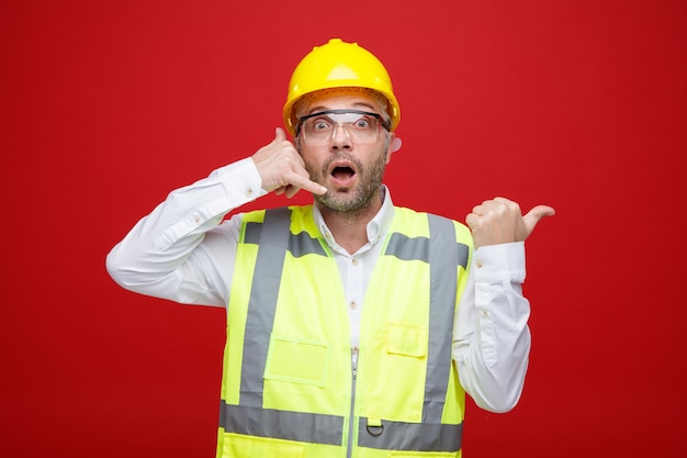
{"label": "clear lens of the safety glasses over the man's eyes", "polygon": [[358,110],[328,110],[301,118],[302,141],[311,145],[328,144],[341,127],[348,138],[358,144],[379,138],[381,116]]}

